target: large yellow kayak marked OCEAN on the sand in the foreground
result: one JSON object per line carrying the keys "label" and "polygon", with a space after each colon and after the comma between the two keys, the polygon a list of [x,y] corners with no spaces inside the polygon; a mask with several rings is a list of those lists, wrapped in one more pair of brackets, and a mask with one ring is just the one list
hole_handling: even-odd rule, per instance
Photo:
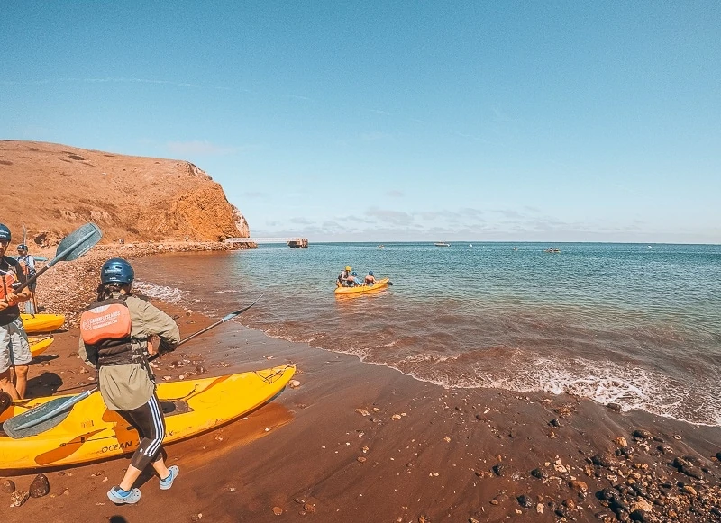
{"label": "large yellow kayak marked OCEAN on the sand in the foreground", "polygon": [[[216,378],[160,383],[165,413],[163,443],[196,436],[241,417],[282,391],[295,365],[229,374]],[[61,396],[14,401],[0,422]],[[0,469],[37,469],[79,464],[132,453],[138,433],[116,412],[107,410],[99,392],[79,401],[59,425],[36,436],[13,439],[0,433]]]}

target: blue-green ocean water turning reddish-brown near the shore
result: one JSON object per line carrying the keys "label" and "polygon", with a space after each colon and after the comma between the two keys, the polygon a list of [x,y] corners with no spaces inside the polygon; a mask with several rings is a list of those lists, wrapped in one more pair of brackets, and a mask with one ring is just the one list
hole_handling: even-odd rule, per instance
{"label": "blue-green ocean water turning reddish-brown near the shore", "polygon": [[[393,285],[338,297],[347,265]],[[213,316],[265,293],[244,325],[418,380],[570,392],[721,425],[721,246],[261,245],[134,266],[143,292]]]}

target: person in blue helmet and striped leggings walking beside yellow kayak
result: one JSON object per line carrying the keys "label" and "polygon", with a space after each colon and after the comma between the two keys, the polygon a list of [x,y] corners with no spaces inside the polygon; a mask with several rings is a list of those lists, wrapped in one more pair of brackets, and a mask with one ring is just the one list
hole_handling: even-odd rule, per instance
{"label": "person in blue helmet and striped leggings walking beside yellow kayak", "polygon": [[165,418],[155,392],[155,376],[148,362],[148,338],[160,337],[160,353],[180,341],[176,322],[151,303],[132,295],[135,273],[123,258],[111,258],[100,269],[97,301],[80,317],[79,354],[97,369],[100,395],[138,431],[140,445],[120,485],[107,492],[117,504],[137,503],[140,489],[133,483],[152,464],[160,489],[168,490],[178,477],[178,466],[167,467],[162,453]]}

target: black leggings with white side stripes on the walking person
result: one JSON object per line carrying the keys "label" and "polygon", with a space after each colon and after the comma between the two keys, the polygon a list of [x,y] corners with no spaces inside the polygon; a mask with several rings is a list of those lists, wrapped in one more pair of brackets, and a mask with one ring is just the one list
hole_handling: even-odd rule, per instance
{"label": "black leggings with white side stripes on the walking person", "polygon": [[133,410],[118,410],[118,414],[130,423],[140,436],[140,446],[132,455],[131,464],[144,469],[148,464],[158,461],[162,454],[162,442],[165,437],[165,418],[160,409],[158,396],[153,393],[150,400]]}

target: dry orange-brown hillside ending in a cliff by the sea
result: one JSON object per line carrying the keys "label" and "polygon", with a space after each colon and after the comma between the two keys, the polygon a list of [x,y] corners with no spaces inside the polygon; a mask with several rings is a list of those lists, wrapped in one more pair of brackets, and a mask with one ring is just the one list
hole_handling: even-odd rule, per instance
{"label": "dry orange-brown hillside ending in a cliff by the sea", "polygon": [[222,241],[250,236],[223,188],[182,160],[141,158],[38,141],[0,140],[0,222],[36,247],[87,221],[103,243]]}

